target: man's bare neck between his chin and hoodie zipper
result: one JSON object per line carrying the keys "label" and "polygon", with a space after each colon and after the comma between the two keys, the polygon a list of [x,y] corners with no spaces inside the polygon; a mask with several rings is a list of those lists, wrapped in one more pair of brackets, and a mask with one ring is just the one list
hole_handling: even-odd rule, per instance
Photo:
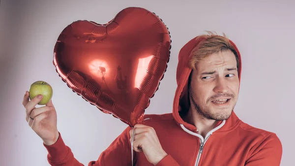
{"label": "man's bare neck between his chin and hoodie zipper", "polygon": [[217,120],[211,120],[203,117],[194,108],[189,109],[186,116],[184,117],[184,121],[191,125],[194,125],[197,128],[198,133],[201,134],[204,138],[206,137],[208,132],[215,128],[218,122]]}

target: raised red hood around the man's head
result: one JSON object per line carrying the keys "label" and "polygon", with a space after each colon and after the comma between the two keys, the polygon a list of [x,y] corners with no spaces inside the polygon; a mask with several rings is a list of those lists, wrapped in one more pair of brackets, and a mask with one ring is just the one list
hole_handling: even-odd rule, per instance
{"label": "raised red hood around the man's head", "polygon": [[[173,117],[175,121],[177,122],[179,126],[183,125],[186,129],[193,132],[196,132],[197,128],[191,124],[184,122],[183,119],[180,117],[179,113],[185,114],[190,107],[189,94],[188,94],[188,79],[192,71],[192,68],[189,67],[188,61],[193,48],[197,46],[202,40],[205,39],[201,37],[196,39],[197,37],[194,37],[189,42],[187,42],[179,51],[177,75],[176,75],[177,89],[176,89],[175,97],[173,101]],[[238,51],[236,44],[231,40],[229,41],[234,46],[239,58],[238,78],[240,80],[241,67],[242,67],[240,52]],[[233,111],[230,118],[226,120],[225,125],[219,131],[230,130],[232,127],[236,126],[238,121],[239,119],[237,118],[235,112]],[[221,122],[222,121],[218,122],[216,126],[218,126]]]}

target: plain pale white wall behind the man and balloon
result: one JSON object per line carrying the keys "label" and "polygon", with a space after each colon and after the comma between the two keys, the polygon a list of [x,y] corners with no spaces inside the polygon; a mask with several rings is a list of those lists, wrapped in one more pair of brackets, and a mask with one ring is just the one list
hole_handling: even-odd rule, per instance
{"label": "plain pale white wall behind the man and balloon", "polygon": [[168,70],[147,114],[171,112],[180,48],[205,30],[227,33],[243,62],[236,114],[254,127],[277,133],[283,144],[281,166],[291,166],[295,149],[295,1],[173,1],[1,0],[1,166],[48,166],[47,151],[29,128],[22,105],[25,91],[36,80],[52,85],[59,131],[84,165],[96,160],[126,127],[73,93],[61,81],[52,60],[56,39],[68,24],[76,20],[104,24],[129,6],[155,12],[172,36]]}

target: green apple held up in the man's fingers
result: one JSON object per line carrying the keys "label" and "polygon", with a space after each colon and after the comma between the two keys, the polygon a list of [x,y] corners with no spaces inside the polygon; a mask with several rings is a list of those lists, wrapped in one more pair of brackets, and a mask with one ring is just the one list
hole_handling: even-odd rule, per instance
{"label": "green apple held up in the man's fingers", "polygon": [[38,95],[42,95],[43,99],[38,103],[39,105],[45,105],[49,102],[53,95],[52,87],[45,81],[36,81],[30,85],[29,99],[32,100]]}

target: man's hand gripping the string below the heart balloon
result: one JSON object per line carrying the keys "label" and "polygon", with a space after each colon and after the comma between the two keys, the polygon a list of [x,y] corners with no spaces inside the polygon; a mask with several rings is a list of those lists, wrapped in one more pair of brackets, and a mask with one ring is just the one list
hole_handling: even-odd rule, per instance
{"label": "man's hand gripping the string below the heart balloon", "polygon": [[135,130],[135,132],[132,148],[136,152],[144,152],[149,163],[155,166],[167,156],[167,153],[163,150],[157,134],[152,127],[137,124],[130,130],[130,137],[132,137],[133,130]]}

